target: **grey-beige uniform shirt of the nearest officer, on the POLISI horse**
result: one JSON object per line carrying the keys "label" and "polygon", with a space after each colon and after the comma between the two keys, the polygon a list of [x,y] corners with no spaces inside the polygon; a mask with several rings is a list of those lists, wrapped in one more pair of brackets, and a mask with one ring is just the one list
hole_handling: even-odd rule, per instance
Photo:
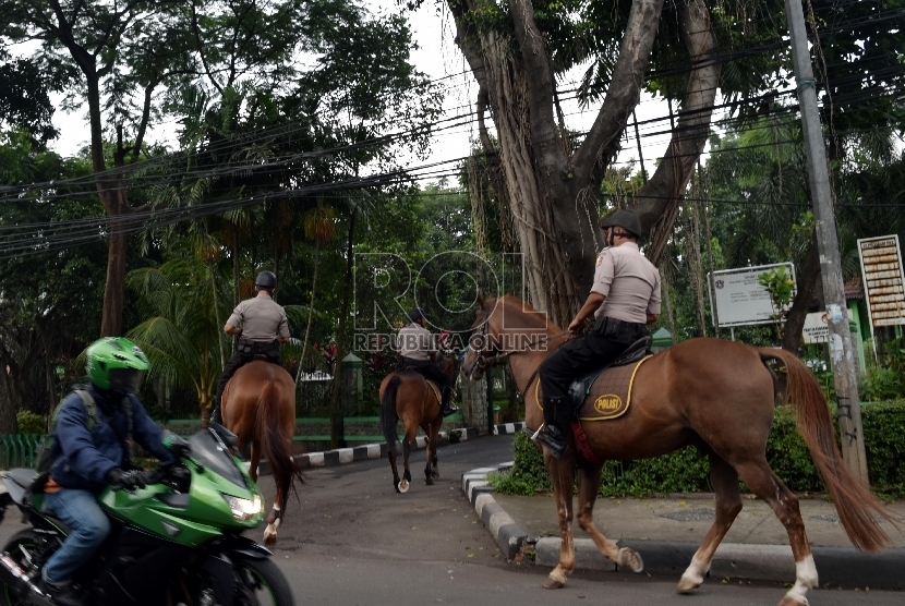
{"label": "grey-beige uniform shirt of the nearest officer, on the POLISI horse", "polygon": [[635,242],[600,252],[591,292],[606,298],[594,317],[647,324],[648,314],[660,313],[660,271]]}

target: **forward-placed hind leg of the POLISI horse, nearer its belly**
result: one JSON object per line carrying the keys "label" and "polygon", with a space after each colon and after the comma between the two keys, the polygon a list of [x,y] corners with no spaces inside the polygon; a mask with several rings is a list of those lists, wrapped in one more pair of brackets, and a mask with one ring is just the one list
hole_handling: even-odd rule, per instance
{"label": "forward-placed hind leg of the POLISI horse, nearer its belly", "polygon": [[691,558],[691,563],[678,583],[679,593],[690,593],[704,581],[716,547],[741,511],[741,496],[738,494],[738,472],[716,453],[710,455],[710,481],[716,493],[716,518],[704,536],[701,546]]}

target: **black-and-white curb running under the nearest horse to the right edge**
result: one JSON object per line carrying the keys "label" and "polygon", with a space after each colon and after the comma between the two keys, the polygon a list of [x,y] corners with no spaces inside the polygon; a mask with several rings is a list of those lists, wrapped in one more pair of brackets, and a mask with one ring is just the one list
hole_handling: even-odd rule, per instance
{"label": "black-and-white curb running under the nearest horse to the right edge", "polygon": [[[555,567],[559,560],[558,537],[529,536],[493,497],[494,487],[487,483],[491,472],[506,471],[512,463],[480,468],[462,474],[462,492],[487,526],[499,548],[514,560],[523,547],[533,544],[534,563]],[[699,544],[671,541],[619,541],[620,547],[630,547],[644,560],[644,571],[651,574],[675,577],[685,572]],[[905,548],[892,548],[879,554],[864,554],[854,547],[811,546],[821,586],[870,587],[905,590]],[[590,538],[575,541],[576,568],[583,570],[619,571],[619,567],[603,557]],[[624,572],[630,572],[625,569]],[[788,545],[755,545],[723,543],[716,549],[710,572],[711,579],[746,579],[751,581],[793,582],[795,559]]]}

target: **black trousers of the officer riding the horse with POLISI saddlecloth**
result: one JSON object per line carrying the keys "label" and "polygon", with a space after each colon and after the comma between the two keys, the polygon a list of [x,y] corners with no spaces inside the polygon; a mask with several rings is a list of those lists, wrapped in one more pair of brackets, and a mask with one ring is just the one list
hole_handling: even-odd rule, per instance
{"label": "black trousers of the officer riding the horse with POLISI saddlecloth", "polygon": [[[592,332],[563,343],[540,367],[544,420],[565,432],[571,423],[569,385],[616,360],[628,346],[647,335],[643,324],[600,318]],[[557,410],[562,412],[557,413]]]}

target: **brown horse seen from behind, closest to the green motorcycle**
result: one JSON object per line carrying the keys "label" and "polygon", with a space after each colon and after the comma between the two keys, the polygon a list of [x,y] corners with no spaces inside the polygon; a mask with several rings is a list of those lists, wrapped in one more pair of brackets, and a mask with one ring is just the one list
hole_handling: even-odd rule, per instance
{"label": "brown horse seen from behind, closest to the green motorcycle", "polygon": [[290,447],[295,433],[295,384],[282,366],[253,360],[236,371],[224,390],[220,404],[224,426],[236,434],[239,445],[251,446],[249,474],[257,482],[262,453],[267,459],[277,494],[267,514],[264,544],[277,541],[280,519],[294,482],[303,482]]}

